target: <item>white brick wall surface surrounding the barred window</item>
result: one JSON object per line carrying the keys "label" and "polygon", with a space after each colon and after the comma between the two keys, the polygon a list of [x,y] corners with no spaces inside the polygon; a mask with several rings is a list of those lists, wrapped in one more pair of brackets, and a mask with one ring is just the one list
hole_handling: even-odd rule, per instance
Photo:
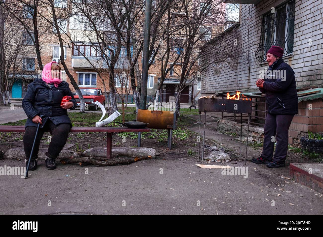
{"label": "white brick wall surface surrounding the barred window", "polygon": [[[257,88],[255,82],[259,78],[259,71],[265,66],[268,67],[255,58],[261,39],[262,15],[283,2],[271,0],[257,5],[240,4],[238,31],[244,51],[248,53],[243,55],[236,67],[222,67],[220,73],[215,74],[214,68],[209,66],[202,73],[202,94]],[[323,87],[323,0],[296,0],[293,50],[293,56],[285,58],[284,61],[293,68],[297,86]]]}

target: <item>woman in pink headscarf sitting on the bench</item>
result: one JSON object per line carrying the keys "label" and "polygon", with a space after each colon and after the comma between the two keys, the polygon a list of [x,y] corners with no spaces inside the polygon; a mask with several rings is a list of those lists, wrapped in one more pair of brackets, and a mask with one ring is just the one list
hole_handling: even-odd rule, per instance
{"label": "woman in pink headscarf sitting on the bench", "polygon": [[[28,116],[23,138],[24,150],[28,162],[37,125],[40,123],[36,137],[29,170],[37,168],[39,143],[44,133],[48,130],[52,134],[48,151],[45,153],[45,163],[48,170],[56,168],[55,159],[63,149],[69,129],[72,127],[67,109],[74,109],[76,101],[69,89],[68,83],[60,79],[61,67],[56,62],[48,63],[42,71],[42,78],[36,79],[28,85],[28,89],[22,101],[22,107]],[[64,96],[71,96],[68,102],[61,101]],[[39,115],[44,114],[43,118]]]}

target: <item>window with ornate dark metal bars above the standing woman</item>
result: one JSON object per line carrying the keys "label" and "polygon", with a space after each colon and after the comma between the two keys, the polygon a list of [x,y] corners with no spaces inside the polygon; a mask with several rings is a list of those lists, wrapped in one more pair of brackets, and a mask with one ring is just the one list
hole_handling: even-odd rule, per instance
{"label": "window with ornate dark metal bars above the standing woman", "polygon": [[284,49],[284,56],[293,55],[295,0],[289,1],[263,15],[261,40],[256,52],[259,62],[266,61],[266,52],[272,46]]}

